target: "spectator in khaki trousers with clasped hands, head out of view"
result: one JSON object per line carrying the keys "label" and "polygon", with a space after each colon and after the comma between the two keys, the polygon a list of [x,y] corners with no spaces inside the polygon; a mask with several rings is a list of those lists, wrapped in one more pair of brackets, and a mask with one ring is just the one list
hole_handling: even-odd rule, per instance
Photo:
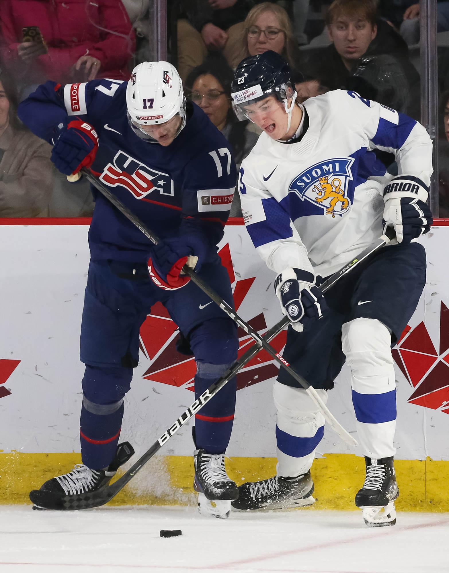
{"label": "spectator in khaki trousers with clasped hands, head out of view", "polygon": [[221,52],[229,65],[237,66],[243,20],[254,0],[184,0],[178,19],[178,72],[184,82],[208,52]]}

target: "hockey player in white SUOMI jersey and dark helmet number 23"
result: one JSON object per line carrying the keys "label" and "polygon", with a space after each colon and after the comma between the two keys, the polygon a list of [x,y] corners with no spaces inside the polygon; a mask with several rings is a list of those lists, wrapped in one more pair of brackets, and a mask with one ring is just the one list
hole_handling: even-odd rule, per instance
{"label": "hockey player in white SUOMI jersey and dark helmet number 23", "polygon": [[[356,505],[367,525],[394,525],[399,489],[391,346],[425,284],[425,251],[415,240],[432,223],[425,204],[431,139],[415,120],[355,92],[297,103],[288,64],[274,52],[241,61],[232,92],[237,116],[263,129],[241,164],[239,191],[249,236],[277,273],[276,295],[291,320],[284,358],[323,401],[348,362],[366,462]],[[399,175],[393,176],[386,167],[395,160]],[[350,262],[385,225],[394,227],[397,243],[335,285],[325,300],[317,287],[322,277]],[[276,476],[240,486],[232,503],[237,509],[314,501],[310,467],[325,420],[282,368],[274,400]]]}

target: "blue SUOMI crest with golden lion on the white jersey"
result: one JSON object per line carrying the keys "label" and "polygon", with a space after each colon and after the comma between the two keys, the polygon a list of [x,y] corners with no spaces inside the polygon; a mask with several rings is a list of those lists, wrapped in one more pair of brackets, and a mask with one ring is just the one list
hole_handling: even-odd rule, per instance
{"label": "blue SUOMI crest with golden lion on the white jersey", "polygon": [[354,191],[348,197],[349,181],[353,179],[351,166],[354,159],[336,158],[315,163],[300,173],[288,187],[302,201],[317,206],[317,215],[342,215],[348,211]]}

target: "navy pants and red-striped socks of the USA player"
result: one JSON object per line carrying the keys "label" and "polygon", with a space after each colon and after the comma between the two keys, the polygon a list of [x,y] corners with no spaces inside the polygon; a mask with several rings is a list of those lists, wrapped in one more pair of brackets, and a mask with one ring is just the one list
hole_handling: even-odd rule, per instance
{"label": "navy pants and red-striped socks of the USA player", "polygon": [[[202,266],[200,276],[233,304],[227,270]],[[139,359],[139,329],[157,302],[167,308],[188,340],[197,364],[195,395],[200,395],[237,359],[235,323],[189,282],[178,291],[162,291],[150,281],[145,264],[91,261],[81,324],[81,361],[85,363],[80,441],[83,464],[106,468],[115,455]],[[231,437],[236,380],[230,380],[196,415],[196,446],[223,453]],[[151,411],[149,411],[151,415]],[[171,420],[167,420],[167,426]],[[153,436],[149,437],[150,439]],[[155,437],[154,437],[155,438]]]}

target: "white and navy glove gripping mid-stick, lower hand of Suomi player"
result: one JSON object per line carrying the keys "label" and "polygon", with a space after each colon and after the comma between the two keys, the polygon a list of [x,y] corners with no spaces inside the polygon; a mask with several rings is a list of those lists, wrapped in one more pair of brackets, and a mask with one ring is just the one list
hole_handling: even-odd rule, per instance
{"label": "white and navy glove gripping mid-stick, lower hand of Suomi player", "polygon": [[291,321],[296,332],[307,330],[327,311],[327,304],[312,273],[301,269],[286,269],[275,280],[275,291],[282,313]]}

